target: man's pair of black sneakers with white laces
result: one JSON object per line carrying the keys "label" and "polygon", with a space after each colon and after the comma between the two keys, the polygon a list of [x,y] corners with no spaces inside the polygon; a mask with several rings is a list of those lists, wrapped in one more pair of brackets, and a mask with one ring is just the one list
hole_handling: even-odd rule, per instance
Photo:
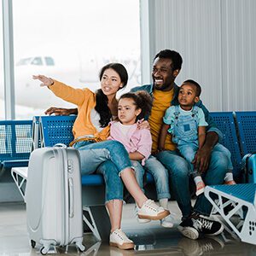
{"label": "man's pair of black sneakers with white laces", "polygon": [[224,226],[218,221],[202,217],[194,212],[189,218],[185,218],[177,229],[183,236],[195,240],[199,236],[217,236],[224,230]]}

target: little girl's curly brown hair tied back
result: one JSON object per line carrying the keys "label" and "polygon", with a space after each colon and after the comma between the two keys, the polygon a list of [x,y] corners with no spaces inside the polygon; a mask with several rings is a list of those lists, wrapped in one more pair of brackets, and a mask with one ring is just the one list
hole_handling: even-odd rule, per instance
{"label": "little girl's curly brown hair tied back", "polygon": [[137,92],[128,92],[120,96],[120,99],[132,99],[136,109],[141,108],[142,112],[137,116],[136,120],[148,117],[152,108],[152,98],[145,90],[138,90]]}

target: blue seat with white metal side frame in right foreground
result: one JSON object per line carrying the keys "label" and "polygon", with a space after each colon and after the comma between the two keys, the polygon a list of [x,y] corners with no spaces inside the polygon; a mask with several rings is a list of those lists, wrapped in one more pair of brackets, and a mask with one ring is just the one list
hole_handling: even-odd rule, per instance
{"label": "blue seat with white metal side frame in right foreground", "polygon": [[[224,219],[224,223],[229,225],[241,241],[256,245],[255,183],[207,186],[205,195],[214,210]],[[228,206],[231,206],[230,212],[224,211]],[[241,218],[240,222],[234,218],[237,214]],[[225,228],[229,230],[227,226]]]}

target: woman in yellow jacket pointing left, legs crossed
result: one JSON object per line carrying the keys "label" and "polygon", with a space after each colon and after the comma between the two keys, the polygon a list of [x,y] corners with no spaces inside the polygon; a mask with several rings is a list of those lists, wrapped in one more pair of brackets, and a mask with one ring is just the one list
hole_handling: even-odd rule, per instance
{"label": "woman in yellow jacket pointing left, legs crossed", "polygon": [[125,67],[119,63],[109,63],[102,67],[99,77],[101,89],[96,90],[96,93],[89,89],[74,89],[44,75],[33,76],[33,79],[40,80],[43,83],[41,86],[48,86],[55,96],[78,106],[79,113],[73,125],[74,140],[71,145],[79,150],[82,174],[96,172],[97,168],[101,169],[104,162],[106,165],[113,165],[112,170],[108,170],[108,178],[105,178],[106,206],[111,223],[109,243],[121,249],[131,249],[134,247],[133,241],[120,230],[123,187],[120,186],[119,177],[137,202],[139,218],[161,219],[170,212],[158,207],[143,194],[123,144],[107,140],[108,124],[117,117],[117,91],[124,88],[128,80]]}

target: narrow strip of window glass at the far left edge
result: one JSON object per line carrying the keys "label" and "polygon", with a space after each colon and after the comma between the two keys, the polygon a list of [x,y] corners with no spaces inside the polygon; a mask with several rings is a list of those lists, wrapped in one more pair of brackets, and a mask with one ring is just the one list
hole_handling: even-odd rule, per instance
{"label": "narrow strip of window glass at the far left edge", "polygon": [[3,85],[3,4],[0,1],[0,119],[5,119],[4,85]]}

